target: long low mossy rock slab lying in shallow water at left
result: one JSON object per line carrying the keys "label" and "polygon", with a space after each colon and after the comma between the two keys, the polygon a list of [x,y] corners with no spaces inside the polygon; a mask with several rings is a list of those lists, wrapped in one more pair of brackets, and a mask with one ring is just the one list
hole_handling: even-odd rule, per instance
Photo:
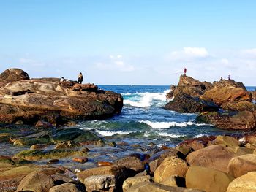
{"label": "long low mossy rock slab lying in shallow water at left", "polygon": [[17,153],[15,157],[24,158],[26,160],[40,160],[46,158],[66,158],[69,156],[85,156],[80,150],[69,150],[69,149],[59,149],[59,150],[23,150]]}

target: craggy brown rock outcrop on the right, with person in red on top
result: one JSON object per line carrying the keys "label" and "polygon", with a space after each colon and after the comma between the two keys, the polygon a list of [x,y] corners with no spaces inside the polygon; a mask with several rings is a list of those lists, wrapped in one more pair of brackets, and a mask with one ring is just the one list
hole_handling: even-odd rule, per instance
{"label": "craggy brown rock outcrop on the right, with person in red on top", "polygon": [[[197,122],[211,123],[224,129],[256,128],[256,104],[242,82],[220,80],[200,82],[181,75],[177,86],[171,86],[165,105],[176,112],[201,112]],[[219,110],[220,109],[220,110]]]}

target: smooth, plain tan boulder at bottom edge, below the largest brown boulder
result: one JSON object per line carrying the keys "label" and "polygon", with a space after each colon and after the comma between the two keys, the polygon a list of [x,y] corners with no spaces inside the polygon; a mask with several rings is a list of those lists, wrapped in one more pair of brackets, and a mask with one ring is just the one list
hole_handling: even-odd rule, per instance
{"label": "smooth, plain tan boulder at bottom edge, below the largest brown boulder", "polygon": [[206,192],[226,192],[233,177],[217,169],[191,166],[186,174],[187,188],[198,188]]}

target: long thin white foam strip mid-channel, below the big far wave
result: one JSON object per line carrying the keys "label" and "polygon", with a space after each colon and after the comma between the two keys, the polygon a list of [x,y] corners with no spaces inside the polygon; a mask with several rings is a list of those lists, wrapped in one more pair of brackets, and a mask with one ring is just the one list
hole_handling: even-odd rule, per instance
{"label": "long thin white foam strip mid-channel, below the big far wave", "polygon": [[151,128],[170,128],[173,126],[179,126],[179,127],[184,127],[184,126],[192,126],[194,123],[189,121],[189,122],[151,122],[150,120],[139,120],[139,123],[145,123],[148,126],[151,126]]}

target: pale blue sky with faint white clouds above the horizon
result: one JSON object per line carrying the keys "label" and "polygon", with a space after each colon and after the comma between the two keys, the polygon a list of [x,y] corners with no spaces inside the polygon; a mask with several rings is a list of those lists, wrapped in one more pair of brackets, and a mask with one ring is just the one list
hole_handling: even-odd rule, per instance
{"label": "pale blue sky with faint white clouds above the horizon", "polygon": [[255,0],[0,0],[0,72],[99,85],[256,85]]}

